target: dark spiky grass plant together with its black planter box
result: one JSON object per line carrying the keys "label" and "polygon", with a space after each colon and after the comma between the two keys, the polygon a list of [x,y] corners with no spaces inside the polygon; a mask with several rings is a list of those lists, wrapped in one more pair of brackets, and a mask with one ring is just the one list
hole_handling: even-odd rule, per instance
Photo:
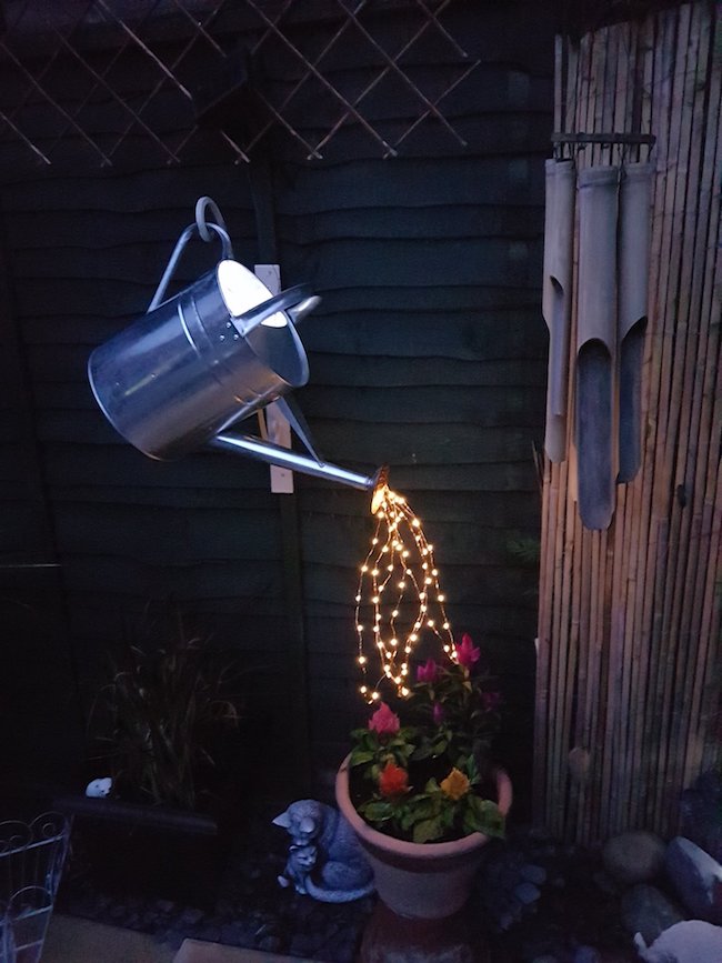
{"label": "dark spiky grass plant together with its black planter box", "polygon": [[228,661],[179,612],[173,623],[127,644],[96,699],[90,774],[110,776],[110,792],[56,806],[76,816],[101,886],[198,902],[212,900],[238,806],[241,716]]}

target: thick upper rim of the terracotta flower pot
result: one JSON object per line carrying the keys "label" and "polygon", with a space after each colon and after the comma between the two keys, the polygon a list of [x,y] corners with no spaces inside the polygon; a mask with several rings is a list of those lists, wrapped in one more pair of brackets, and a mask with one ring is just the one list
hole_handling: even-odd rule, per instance
{"label": "thick upper rim of the terracotta flower pot", "polygon": [[[443,859],[444,856],[457,856],[462,853],[472,852],[489,840],[489,836],[484,833],[470,833],[468,836],[444,843],[412,843],[407,840],[398,840],[395,836],[389,836],[385,833],[380,833],[359,815],[351,802],[349,794],[350,759],[351,754],[349,753],[337,772],[335,799],[339,809],[359,839],[369,845],[400,856],[415,853],[425,859]],[[497,805],[502,815],[505,816],[511,809],[513,800],[511,779],[505,770],[499,768],[493,770],[493,775],[497,781]]]}

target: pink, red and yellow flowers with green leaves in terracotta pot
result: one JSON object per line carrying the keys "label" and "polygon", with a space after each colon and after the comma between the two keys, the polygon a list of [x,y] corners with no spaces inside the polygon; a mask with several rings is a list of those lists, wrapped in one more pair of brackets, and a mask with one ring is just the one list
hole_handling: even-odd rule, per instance
{"label": "pink, red and yellow flowers with green leaves in terracotta pot", "polygon": [[408,698],[382,702],[352,732],[351,798],[379,832],[414,843],[503,835],[504,817],[484,798],[501,700],[480,656],[463,635],[443,663],[418,666]]}

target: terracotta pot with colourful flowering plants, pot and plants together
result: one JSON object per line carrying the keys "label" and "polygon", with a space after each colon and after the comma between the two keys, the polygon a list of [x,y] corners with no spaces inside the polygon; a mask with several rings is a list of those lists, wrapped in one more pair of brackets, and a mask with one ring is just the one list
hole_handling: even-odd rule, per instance
{"label": "terracotta pot with colourful flowering plants, pot and plants together", "polygon": [[393,913],[441,920],[464,905],[484,843],[504,832],[509,776],[492,765],[500,696],[469,635],[429,659],[398,711],[382,702],[337,776],[337,802]]}

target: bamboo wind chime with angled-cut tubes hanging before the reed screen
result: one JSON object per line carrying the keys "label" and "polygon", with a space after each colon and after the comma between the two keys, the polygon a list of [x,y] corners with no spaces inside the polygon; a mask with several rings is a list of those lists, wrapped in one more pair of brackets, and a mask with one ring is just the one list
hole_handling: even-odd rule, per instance
{"label": "bamboo wind chime with angled-cut tubes hanging before the reed screen", "polygon": [[[653,138],[635,140],[653,142]],[[556,139],[559,146],[590,141],[616,144],[629,143],[630,138],[566,134]],[[652,172],[649,162],[599,164],[578,173],[573,159],[546,161],[542,309],[550,341],[544,448],[552,462],[564,461],[573,451],[579,512],[588,529],[609,526],[615,482],[631,481],[641,463]],[[566,413],[574,290],[570,441]]]}

